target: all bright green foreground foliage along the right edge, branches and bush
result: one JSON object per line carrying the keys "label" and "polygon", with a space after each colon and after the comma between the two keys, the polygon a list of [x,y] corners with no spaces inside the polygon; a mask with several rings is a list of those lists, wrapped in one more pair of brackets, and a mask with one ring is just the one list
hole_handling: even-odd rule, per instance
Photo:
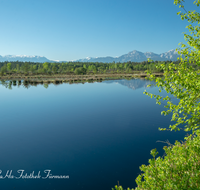
{"label": "all bright green foreground foliage along the right edge, branches and bush", "polygon": [[[169,126],[170,130],[180,130],[180,124],[185,131],[192,131],[185,142],[176,141],[175,145],[165,146],[165,156],[156,158],[156,149],[151,151],[153,159],[149,165],[142,165],[143,172],[137,179],[135,190],[196,190],[200,189],[200,14],[196,11],[187,11],[183,5],[184,0],[174,0],[184,13],[178,12],[182,20],[187,20],[189,33],[184,37],[187,44],[181,43],[177,49],[180,54],[180,63],[157,65],[157,69],[164,72],[163,78],[156,78],[151,72],[151,80],[156,80],[159,91],[165,90],[169,96],[159,96],[144,92],[156,98],[156,103],[167,101],[167,111],[162,114],[172,113],[172,121],[176,123]],[[196,6],[200,0],[195,0]],[[194,66],[195,65],[195,66]],[[173,103],[172,98],[179,100]],[[166,128],[160,130],[167,130]],[[117,190],[122,187],[116,186]]]}

